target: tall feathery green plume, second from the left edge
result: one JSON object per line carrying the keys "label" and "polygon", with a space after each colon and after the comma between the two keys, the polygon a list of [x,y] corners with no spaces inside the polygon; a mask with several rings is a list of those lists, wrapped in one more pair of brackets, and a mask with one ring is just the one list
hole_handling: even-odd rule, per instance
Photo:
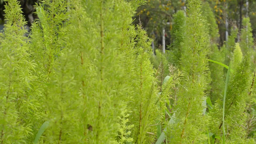
{"label": "tall feathery green plume, second from the left edge", "polygon": [[75,62],[73,52],[65,49],[68,44],[68,29],[64,22],[68,19],[66,9],[65,0],[44,1],[44,5],[37,6],[37,13],[42,21],[34,24],[32,28],[31,48],[38,65],[35,74],[39,77],[37,81],[44,95],[38,97],[44,106],[42,112],[45,114],[40,123],[49,121],[49,128],[39,142],[73,141],[70,133],[75,132],[77,128],[73,125],[79,115],[73,111],[77,107],[74,99],[78,92],[74,80]]}

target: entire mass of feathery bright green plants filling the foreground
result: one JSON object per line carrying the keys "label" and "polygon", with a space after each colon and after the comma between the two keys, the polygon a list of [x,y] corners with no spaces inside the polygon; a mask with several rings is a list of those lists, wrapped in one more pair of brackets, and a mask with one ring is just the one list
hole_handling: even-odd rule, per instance
{"label": "entire mass of feathery bright green plants filling the foreground", "polygon": [[132,24],[144,0],[43,0],[29,37],[6,1],[0,144],[256,143],[249,18],[218,48],[210,6],[187,0],[154,55]]}

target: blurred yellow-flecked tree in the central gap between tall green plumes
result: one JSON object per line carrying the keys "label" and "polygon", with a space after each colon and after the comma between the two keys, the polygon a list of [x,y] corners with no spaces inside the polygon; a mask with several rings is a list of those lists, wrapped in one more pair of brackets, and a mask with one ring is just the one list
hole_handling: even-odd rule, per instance
{"label": "blurred yellow-flecked tree in the central gap between tall green plumes", "polygon": [[[162,44],[161,36],[166,36],[166,45],[171,43],[172,15],[182,9],[185,3],[181,0],[148,0],[137,9],[134,24],[142,23],[147,35],[151,37],[156,47]],[[166,32],[163,34],[163,28]]]}

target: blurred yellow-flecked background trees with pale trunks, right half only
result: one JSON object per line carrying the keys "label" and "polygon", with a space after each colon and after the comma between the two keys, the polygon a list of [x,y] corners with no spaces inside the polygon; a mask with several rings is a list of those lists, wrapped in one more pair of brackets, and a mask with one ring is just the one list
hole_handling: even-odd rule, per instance
{"label": "blurred yellow-flecked background trees with pale trunks, right half only", "polygon": [[[232,29],[242,28],[242,19],[249,17],[252,23],[253,37],[256,37],[256,1],[255,0],[202,0],[208,3],[215,15],[219,28],[219,48],[226,41],[226,30],[230,35]],[[138,8],[134,15],[134,24],[142,23],[147,35],[154,40],[156,48],[161,48],[162,36],[165,36],[166,46],[173,42],[171,30],[173,14],[186,10],[186,0],[147,0],[145,5]],[[202,13],[203,14],[203,13]],[[227,18],[227,21],[225,21]],[[228,29],[226,28],[228,22]],[[163,28],[165,33],[163,34]],[[236,39],[238,41],[238,39]],[[170,48],[170,47],[169,47]],[[168,47],[167,47],[168,49]]]}

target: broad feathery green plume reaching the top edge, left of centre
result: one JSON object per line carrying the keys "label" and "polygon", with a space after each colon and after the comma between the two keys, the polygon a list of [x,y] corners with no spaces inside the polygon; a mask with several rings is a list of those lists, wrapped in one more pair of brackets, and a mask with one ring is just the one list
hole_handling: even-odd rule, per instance
{"label": "broad feathery green plume reaching the top edge, left of centre", "polygon": [[[96,0],[90,5],[84,2],[74,5],[77,11],[70,20],[74,24],[70,33],[78,34],[70,37],[71,48],[76,49],[79,60],[77,82],[81,103],[78,106],[82,106],[79,108],[82,129],[78,141],[111,144],[116,142],[118,131],[132,128],[120,121],[120,118],[128,120],[122,110],[126,108],[130,88],[124,80],[124,55],[118,48],[122,32],[127,32],[131,24],[133,11],[129,3],[120,0]],[[129,135],[118,138],[118,142],[131,140]]]}

